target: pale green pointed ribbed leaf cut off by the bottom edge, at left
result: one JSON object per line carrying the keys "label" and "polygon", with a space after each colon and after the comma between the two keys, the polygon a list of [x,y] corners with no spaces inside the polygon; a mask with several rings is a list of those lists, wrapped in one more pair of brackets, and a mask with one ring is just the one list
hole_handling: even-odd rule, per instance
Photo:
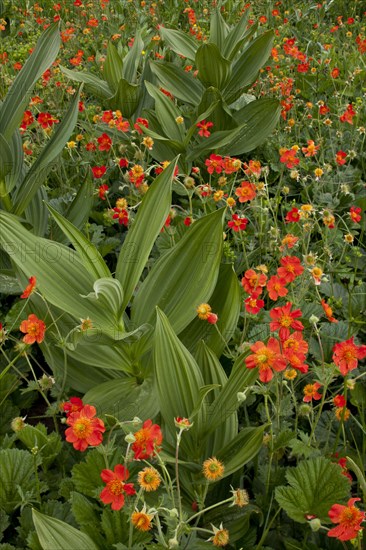
{"label": "pale green pointed ribbed leaf cut off by the bottom edge, at left", "polygon": [[92,539],[64,521],[32,509],[34,526],[43,550],[98,550]]}

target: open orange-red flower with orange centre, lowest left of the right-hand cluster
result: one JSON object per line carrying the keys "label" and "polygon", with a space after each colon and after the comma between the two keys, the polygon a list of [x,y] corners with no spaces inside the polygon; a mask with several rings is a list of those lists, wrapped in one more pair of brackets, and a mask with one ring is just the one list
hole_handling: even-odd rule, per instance
{"label": "open orange-red flower with orange centre, lowest left of the right-hand cluster", "polygon": [[281,355],[280,344],[276,338],[270,338],[267,345],[263,342],[256,342],[250,347],[254,353],[245,359],[248,369],[259,369],[259,380],[270,382],[273,378],[271,369],[282,371],[286,368],[286,359]]}

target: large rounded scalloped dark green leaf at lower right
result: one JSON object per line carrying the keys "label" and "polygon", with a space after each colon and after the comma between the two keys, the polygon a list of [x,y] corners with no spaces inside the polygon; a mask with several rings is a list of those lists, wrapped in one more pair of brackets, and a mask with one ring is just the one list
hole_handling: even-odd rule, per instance
{"label": "large rounded scalloped dark green leaf at lower right", "polygon": [[333,504],[349,496],[350,483],[338,464],[324,457],[303,460],[286,474],[289,486],[277,487],[275,498],[291,519],[306,523],[307,515],[329,523]]}

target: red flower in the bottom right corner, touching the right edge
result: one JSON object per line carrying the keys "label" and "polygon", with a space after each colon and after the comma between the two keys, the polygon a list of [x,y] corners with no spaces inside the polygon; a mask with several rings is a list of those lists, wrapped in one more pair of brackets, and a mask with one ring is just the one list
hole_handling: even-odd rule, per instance
{"label": "red flower in the bottom right corner, touching the right edge", "polygon": [[328,512],[332,523],[338,523],[328,531],[328,537],[335,537],[338,540],[346,541],[357,537],[358,532],[362,530],[361,523],[365,521],[365,512],[361,512],[354,503],[360,498],[350,498],[347,506],[342,504],[333,504]]}

